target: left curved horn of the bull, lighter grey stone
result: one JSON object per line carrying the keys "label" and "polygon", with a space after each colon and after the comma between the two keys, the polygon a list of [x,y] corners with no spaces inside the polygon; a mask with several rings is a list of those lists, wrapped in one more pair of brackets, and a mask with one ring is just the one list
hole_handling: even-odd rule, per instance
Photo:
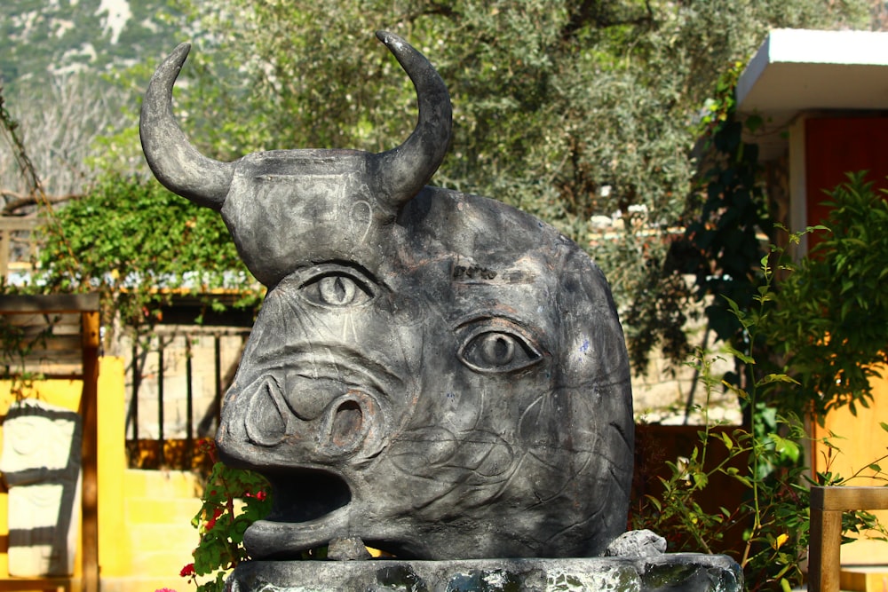
{"label": "left curved horn of the bull, lighter grey stone", "polygon": [[231,185],[234,164],[199,153],[172,114],[172,87],[190,49],[190,43],[180,44],[151,77],[142,99],[139,138],[158,181],[198,205],[219,210]]}

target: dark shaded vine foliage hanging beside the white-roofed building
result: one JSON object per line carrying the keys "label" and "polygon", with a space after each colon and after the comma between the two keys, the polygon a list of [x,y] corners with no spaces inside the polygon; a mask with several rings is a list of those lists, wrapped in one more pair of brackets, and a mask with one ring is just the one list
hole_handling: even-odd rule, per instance
{"label": "dark shaded vine foliage hanging beside the white-roofed building", "polygon": [[[765,281],[760,264],[765,245],[776,239],[758,147],[743,140],[757,118],[741,122],[734,105],[742,66],[738,61],[728,68],[704,103],[697,145],[702,156],[686,200],[684,233],[670,243],[662,266],[648,266],[649,297],[635,299],[626,315],[630,327],[642,329],[630,341],[637,367],[658,341],[670,359],[684,359],[688,340],[682,327],[693,301],[703,304],[716,339],[738,351],[746,347],[747,332],[729,303],[741,311],[752,308]],[[694,277],[693,286],[685,275]]]}

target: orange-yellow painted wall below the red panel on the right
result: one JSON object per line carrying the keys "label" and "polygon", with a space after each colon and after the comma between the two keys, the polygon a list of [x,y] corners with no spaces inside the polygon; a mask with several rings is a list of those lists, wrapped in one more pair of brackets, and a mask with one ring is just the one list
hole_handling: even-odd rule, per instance
{"label": "orange-yellow painted wall below the red panel on the right", "polygon": [[[873,401],[869,408],[857,406],[857,414],[847,408],[837,409],[829,413],[821,428],[813,426],[813,437],[816,440],[829,438],[832,432],[836,438],[829,438],[833,446],[840,452],[830,450],[820,442],[813,444],[812,467],[817,471],[830,470],[844,478],[851,477],[856,471],[863,470],[862,475],[872,474],[867,466],[877,462],[888,471],[888,458],[880,460],[888,454],[888,431],[880,426],[888,423],[888,368],[882,368],[881,379],[872,380]],[[884,481],[868,477],[854,478],[845,485],[881,486]],[[873,512],[883,525],[888,525],[888,510]],[[842,564],[888,564],[888,542],[860,540],[842,546]]]}

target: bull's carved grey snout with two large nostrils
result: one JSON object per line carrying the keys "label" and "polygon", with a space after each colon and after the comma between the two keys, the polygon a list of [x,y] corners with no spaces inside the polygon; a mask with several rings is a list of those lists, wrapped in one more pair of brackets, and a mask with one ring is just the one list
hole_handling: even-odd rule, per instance
{"label": "bull's carved grey snout with two large nostrils", "polygon": [[[377,397],[329,380],[281,384],[266,376],[240,394],[249,400],[244,430],[253,444],[297,449],[312,462],[373,454],[382,435]],[[364,454],[361,454],[363,456]]]}

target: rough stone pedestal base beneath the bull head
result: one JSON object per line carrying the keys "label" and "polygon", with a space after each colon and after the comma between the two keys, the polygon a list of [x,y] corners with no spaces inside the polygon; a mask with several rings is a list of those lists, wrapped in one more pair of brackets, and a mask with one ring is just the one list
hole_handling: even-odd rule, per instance
{"label": "rough stone pedestal base beneath the bull head", "polygon": [[231,592],[741,592],[740,566],[722,555],[454,561],[250,561]]}

